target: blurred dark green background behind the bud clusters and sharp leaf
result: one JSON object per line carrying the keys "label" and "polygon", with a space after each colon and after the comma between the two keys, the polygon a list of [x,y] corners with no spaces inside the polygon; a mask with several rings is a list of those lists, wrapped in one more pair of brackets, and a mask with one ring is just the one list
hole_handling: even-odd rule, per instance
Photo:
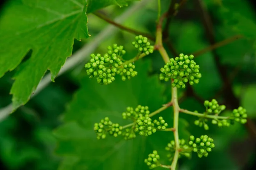
{"label": "blurred dark green background behind the bud clusters and sharp leaf", "polygon": [[[113,19],[137,3],[140,2],[130,3],[125,8],[109,6],[100,12]],[[161,3],[163,13],[168,10],[170,1],[161,0]],[[201,66],[203,77],[192,89],[179,91],[179,95],[186,94],[180,107],[203,112],[202,101],[216,98],[219,103],[226,104],[228,109],[239,105],[245,107],[250,120],[246,125],[235,124],[228,128],[210,125],[210,130],[206,132],[193,124],[195,117],[180,114],[181,137],[207,134],[214,138],[216,148],[207,158],[198,158],[196,155],[189,160],[182,158],[178,167],[180,170],[255,169],[256,2],[205,0],[203,3],[213,23],[215,40],[210,40],[204,29],[197,1],[187,0],[169,26],[169,39],[177,53],[192,54],[207,48],[211,43],[236,35],[244,37],[195,58]],[[2,8],[4,4],[2,1]],[[154,35],[156,20],[157,1],[151,0],[131,14],[123,24]],[[109,25],[93,14],[88,15],[88,21],[91,37],[81,42],[75,41],[73,52],[90,44]],[[125,46],[126,59],[130,59],[137,54],[131,45],[133,40],[134,35],[118,29],[110,38],[102,40],[95,52],[103,54],[108,45],[118,43]],[[175,57],[169,45],[165,45],[170,57]],[[154,111],[169,101],[169,84],[157,78],[164,64],[159,53],[154,52],[135,63],[140,74],[137,78],[126,82],[116,80],[108,87],[89,80],[83,64],[59,76],[55,83],[50,83],[25,106],[0,121],[0,170],[147,170],[143,160],[153,149],[159,150],[163,161],[166,161],[164,147],[173,138],[171,132],[156,134],[146,141],[142,137],[125,141],[127,143],[119,150],[118,139],[96,141],[92,126],[107,115],[119,121],[120,116],[117,115],[129,105],[135,107],[144,104],[151,106],[151,111]],[[8,72],[0,79],[0,107],[7,106],[11,101],[9,91],[15,71]],[[170,124],[171,110],[163,112]],[[78,127],[81,129],[76,129]],[[113,148],[116,153],[105,154]]]}

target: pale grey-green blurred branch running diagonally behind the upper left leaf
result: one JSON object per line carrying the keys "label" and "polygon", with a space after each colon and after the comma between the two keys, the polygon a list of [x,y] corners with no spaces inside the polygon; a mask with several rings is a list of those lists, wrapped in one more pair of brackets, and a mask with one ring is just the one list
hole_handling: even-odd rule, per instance
{"label": "pale grey-green blurred branch running diagonally behind the upper left leaf", "polygon": [[[143,0],[141,3],[137,3],[136,5],[131,6],[127,11],[125,11],[123,14],[117,17],[115,21],[123,22],[126,18],[130,17],[131,14],[133,14],[134,12],[136,12],[137,10],[145,6],[145,4],[147,4],[149,1],[150,0]],[[60,72],[58,73],[58,76],[62,75],[64,72],[69,71],[70,69],[73,69],[75,66],[78,66],[81,63],[85,64],[85,62],[87,62],[88,60],[88,57],[96,49],[96,47],[100,43],[102,43],[103,40],[113,36],[113,34],[116,33],[116,30],[117,29],[114,26],[107,26],[105,29],[103,29],[98,35],[96,35],[96,37],[94,37],[94,39],[90,43],[83,46],[75,54],[73,54],[70,58],[67,59],[67,62],[64,64],[64,66],[61,68]],[[47,74],[38,84],[38,87],[35,90],[34,94],[31,96],[31,98],[37,95],[39,92],[41,92],[50,82],[51,82],[51,75]],[[12,103],[0,109],[0,121],[2,121],[11,113],[12,113]]]}

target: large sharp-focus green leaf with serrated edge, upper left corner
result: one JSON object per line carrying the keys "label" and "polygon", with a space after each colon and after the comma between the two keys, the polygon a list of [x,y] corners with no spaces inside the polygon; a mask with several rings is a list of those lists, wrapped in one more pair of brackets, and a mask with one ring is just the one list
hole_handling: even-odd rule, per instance
{"label": "large sharp-focus green leaf with serrated edge, upper left corner", "polygon": [[52,81],[72,53],[74,38],[88,37],[85,0],[13,0],[0,20],[0,77],[20,64],[13,108],[25,104],[47,70]]}

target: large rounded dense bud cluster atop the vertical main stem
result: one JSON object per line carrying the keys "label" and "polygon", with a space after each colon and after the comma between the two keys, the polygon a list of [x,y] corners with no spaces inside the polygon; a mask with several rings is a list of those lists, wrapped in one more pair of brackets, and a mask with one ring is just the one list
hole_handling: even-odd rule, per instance
{"label": "large rounded dense bud cluster atop the vertical main stem", "polygon": [[172,87],[185,88],[185,83],[198,84],[201,73],[199,65],[193,61],[193,55],[180,54],[179,57],[171,58],[161,69],[160,80],[169,81],[173,79]]}

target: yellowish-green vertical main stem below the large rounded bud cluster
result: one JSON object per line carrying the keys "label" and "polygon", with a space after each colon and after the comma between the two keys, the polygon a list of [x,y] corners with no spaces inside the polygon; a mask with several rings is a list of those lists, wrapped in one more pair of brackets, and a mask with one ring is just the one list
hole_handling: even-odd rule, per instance
{"label": "yellowish-green vertical main stem below the large rounded bud cluster", "polygon": [[179,149],[180,149],[179,132],[178,132],[180,107],[178,104],[177,87],[172,87],[172,104],[173,104],[173,115],[174,115],[173,128],[175,129],[175,131],[173,131],[174,141],[175,141],[175,154],[172,160],[171,167],[172,167],[172,170],[175,170],[177,161],[179,158]]}

